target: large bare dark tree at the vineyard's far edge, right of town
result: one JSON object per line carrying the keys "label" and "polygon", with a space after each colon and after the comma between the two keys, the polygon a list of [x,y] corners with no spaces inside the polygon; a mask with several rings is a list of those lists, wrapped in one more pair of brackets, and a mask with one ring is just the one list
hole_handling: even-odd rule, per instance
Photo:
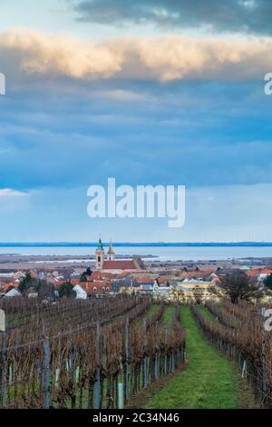
{"label": "large bare dark tree at the vineyard's far edge, right of town", "polygon": [[221,284],[210,288],[210,292],[219,298],[228,298],[231,303],[237,304],[239,300],[252,300],[259,298],[262,291],[257,283],[249,279],[245,273],[229,273],[221,278]]}

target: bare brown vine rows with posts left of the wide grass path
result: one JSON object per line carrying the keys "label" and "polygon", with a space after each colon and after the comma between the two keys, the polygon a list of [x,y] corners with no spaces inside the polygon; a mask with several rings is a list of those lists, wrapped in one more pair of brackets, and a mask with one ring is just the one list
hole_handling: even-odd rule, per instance
{"label": "bare brown vine rows with posts left of the wide grass path", "polygon": [[[131,395],[184,363],[180,307],[116,296],[43,305],[1,303],[2,408],[122,408]],[[148,313],[151,313],[148,315]]]}

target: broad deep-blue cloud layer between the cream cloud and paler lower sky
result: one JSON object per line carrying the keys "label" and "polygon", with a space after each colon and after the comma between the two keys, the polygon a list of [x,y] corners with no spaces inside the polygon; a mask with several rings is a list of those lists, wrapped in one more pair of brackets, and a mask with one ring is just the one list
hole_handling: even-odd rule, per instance
{"label": "broad deep-blue cloud layer between the cream cloud and paler lower sky", "polygon": [[9,87],[1,98],[0,189],[74,188],[108,176],[132,185],[272,183],[272,100],[260,89],[112,81]]}

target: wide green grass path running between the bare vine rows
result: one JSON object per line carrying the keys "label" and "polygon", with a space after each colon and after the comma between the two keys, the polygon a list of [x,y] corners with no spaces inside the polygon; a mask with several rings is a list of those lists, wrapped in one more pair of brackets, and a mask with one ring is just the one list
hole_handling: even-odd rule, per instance
{"label": "wide green grass path running between the bare vine rows", "polygon": [[[237,409],[241,389],[238,370],[200,332],[188,306],[181,310],[189,366],[157,392],[146,408]],[[248,392],[247,401],[253,398]],[[253,403],[252,403],[253,404]]]}

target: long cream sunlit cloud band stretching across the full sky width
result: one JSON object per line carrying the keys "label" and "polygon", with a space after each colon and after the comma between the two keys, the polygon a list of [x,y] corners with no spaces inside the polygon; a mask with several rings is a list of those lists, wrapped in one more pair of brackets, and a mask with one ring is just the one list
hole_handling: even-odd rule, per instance
{"label": "long cream sunlit cloud band stretching across the full sky width", "polygon": [[98,44],[12,30],[0,34],[0,60],[24,74],[77,79],[262,79],[272,63],[272,38],[166,35]]}

